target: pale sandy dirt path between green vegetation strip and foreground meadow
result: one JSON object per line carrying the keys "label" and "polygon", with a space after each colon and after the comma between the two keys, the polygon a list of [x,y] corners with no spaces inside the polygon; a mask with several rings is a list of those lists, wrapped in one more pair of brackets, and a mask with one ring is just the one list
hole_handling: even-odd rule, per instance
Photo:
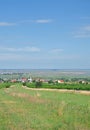
{"label": "pale sandy dirt path between green vegetation strip and foreground meadow", "polygon": [[22,86],[24,89],[29,90],[39,90],[39,91],[56,91],[56,92],[68,92],[68,93],[80,93],[84,95],[90,95],[90,91],[83,91],[83,90],[67,90],[67,89],[47,89],[47,88],[28,88],[26,86]]}

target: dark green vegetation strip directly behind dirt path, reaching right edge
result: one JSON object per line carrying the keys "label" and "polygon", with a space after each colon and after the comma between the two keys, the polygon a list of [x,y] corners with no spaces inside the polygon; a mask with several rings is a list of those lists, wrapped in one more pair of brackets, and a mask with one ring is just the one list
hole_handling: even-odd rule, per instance
{"label": "dark green vegetation strip directly behind dirt path, reaching right edge", "polygon": [[[24,84],[23,84],[24,85]],[[41,83],[41,82],[34,82],[34,83],[25,83],[24,86],[29,88],[52,88],[52,89],[72,89],[72,90],[90,90],[90,84],[59,84],[59,83]]]}

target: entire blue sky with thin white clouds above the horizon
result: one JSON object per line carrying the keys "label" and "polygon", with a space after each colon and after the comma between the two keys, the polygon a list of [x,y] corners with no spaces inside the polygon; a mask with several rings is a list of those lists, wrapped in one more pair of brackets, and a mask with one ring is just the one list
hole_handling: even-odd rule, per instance
{"label": "entire blue sky with thin white clouds above the horizon", "polygon": [[0,69],[90,69],[90,0],[0,0]]}

